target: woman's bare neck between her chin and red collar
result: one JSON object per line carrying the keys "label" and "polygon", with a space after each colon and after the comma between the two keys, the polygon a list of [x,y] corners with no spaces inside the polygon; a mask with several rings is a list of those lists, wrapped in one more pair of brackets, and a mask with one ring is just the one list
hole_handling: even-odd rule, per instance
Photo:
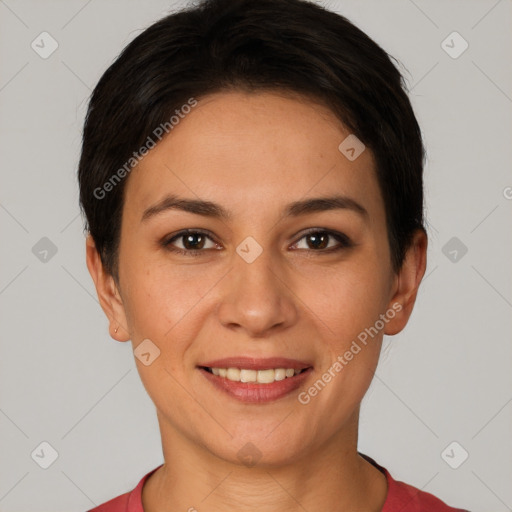
{"label": "woman's bare neck between her chin and red collar", "polygon": [[143,487],[145,512],[379,512],[386,498],[384,474],[357,452],[357,428],[279,465],[236,464],[176,431],[162,445],[166,462]]}

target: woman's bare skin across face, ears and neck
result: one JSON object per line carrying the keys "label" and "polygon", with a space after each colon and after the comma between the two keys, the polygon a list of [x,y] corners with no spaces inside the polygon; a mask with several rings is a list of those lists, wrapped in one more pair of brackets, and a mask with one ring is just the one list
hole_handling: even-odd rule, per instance
{"label": "woman's bare skin across face, ears and neck", "polygon": [[[359,407],[383,334],[400,332],[410,317],[427,239],[415,233],[393,272],[374,158],[367,148],[349,161],[338,150],[348,135],[310,99],[208,96],[129,176],[119,282],[87,239],[87,265],[110,335],[132,340],[134,349],[150,339],[161,351],[149,366],[136,359],[157,409],[165,459],[143,488],[146,512],[381,510],[385,477],[357,453]],[[367,215],[343,208],[283,217],[289,203],[334,192]],[[215,202],[231,217],[170,209],[141,221],[169,193]],[[162,246],[187,228],[212,234],[198,256]],[[326,252],[305,236],[308,228],[344,233],[353,246]],[[263,249],[250,264],[236,252],[248,236]],[[339,246],[326,240],[327,248]],[[174,246],[183,243],[179,238]],[[298,393],[393,304],[401,310],[384,329],[301,404]],[[310,361],[313,372],[284,398],[244,404],[196,367],[238,355]],[[248,442],[261,452],[253,467],[237,457]]]}

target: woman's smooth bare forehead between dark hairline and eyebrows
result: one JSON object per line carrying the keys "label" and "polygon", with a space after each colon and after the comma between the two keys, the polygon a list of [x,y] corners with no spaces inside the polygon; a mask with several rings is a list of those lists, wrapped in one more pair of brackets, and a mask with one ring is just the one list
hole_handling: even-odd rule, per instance
{"label": "woman's smooth bare forehead between dark hairline and eyebrows", "polygon": [[350,135],[327,107],[308,98],[210,95],[132,171],[125,206],[140,212],[172,192],[247,210],[337,192],[369,210],[382,208],[371,151],[351,161],[339,149]]}

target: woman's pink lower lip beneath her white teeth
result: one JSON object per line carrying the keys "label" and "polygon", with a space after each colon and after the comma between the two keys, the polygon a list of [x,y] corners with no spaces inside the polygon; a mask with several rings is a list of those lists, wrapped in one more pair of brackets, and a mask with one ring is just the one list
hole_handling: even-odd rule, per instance
{"label": "woman's pink lower lip beneath her white teeth", "polygon": [[270,384],[236,382],[219,375],[214,375],[203,368],[199,368],[199,370],[214,386],[229,396],[245,403],[264,403],[283,398],[298,389],[313,369],[308,368],[298,375],[286,377],[283,380],[275,380]]}

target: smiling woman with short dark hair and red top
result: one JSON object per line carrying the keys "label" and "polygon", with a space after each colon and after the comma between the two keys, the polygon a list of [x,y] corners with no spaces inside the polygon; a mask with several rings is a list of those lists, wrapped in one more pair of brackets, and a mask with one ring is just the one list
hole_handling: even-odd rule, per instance
{"label": "smiling woman with short dark hair and red top", "polygon": [[450,511],[357,451],[425,272],[421,132],[387,54],[301,0],[211,0],[96,86],[87,265],[165,463],[94,510]]}

